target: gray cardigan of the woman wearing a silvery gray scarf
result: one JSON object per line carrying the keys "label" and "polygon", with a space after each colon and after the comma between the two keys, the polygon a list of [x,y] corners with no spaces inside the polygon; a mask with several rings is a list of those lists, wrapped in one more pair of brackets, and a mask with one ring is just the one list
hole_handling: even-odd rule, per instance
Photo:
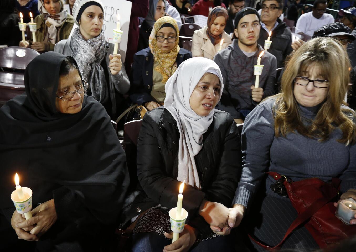
{"label": "gray cardigan of the woman wearing a silvery gray scarf", "polygon": [[[109,46],[109,50],[105,55],[105,62],[106,65],[109,65],[109,54],[114,52],[114,44],[106,43],[106,46]],[[61,40],[54,46],[54,52],[62,53],[66,56],[72,56],[74,58],[74,53],[72,49],[68,46],[67,40]],[[130,89],[130,81],[129,77],[127,77],[125,65],[122,63],[121,71],[116,74],[112,75],[110,69],[108,68],[109,73],[109,95],[111,100],[111,109],[112,114],[116,114],[116,98],[115,98],[115,90],[119,94],[126,94],[127,91]]]}

